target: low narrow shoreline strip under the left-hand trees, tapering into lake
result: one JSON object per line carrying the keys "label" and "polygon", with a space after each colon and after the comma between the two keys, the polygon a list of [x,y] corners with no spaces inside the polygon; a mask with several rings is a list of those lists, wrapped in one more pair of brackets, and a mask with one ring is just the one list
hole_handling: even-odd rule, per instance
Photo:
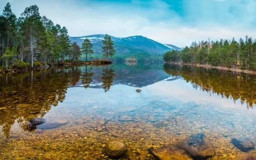
{"label": "low narrow shoreline strip under the left-hand trees, tapering into lake", "polygon": [[42,70],[42,69],[58,67],[58,66],[108,65],[108,64],[112,64],[112,61],[107,60],[107,59],[97,59],[97,60],[92,60],[92,61],[63,62],[63,63],[53,64],[53,65],[49,65],[49,66],[48,65],[40,66],[40,67],[36,67],[33,69],[30,67],[19,68],[19,69],[13,69],[10,67],[8,70],[0,69],[0,73],[16,73],[16,72],[24,72],[24,71],[29,71],[29,70]]}

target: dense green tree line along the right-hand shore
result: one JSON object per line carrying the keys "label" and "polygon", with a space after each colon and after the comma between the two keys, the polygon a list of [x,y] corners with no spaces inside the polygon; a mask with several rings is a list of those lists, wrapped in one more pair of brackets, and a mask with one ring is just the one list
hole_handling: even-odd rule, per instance
{"label": "dense green tree line along the right-hand shore", "polygon": [[239,41],[221,39],[220,41],[193,42],[182,51],[172,50],[164,55],[165,62],[198,63],[233,69],[256,70],[256,40],[246,36]]}

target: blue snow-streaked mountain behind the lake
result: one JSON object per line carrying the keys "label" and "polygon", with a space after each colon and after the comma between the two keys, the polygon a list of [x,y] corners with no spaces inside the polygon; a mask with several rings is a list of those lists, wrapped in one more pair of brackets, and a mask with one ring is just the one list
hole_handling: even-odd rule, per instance
{"label": "blue snow-streaked mountain behind the lake", "polygon": [[[105,35],[88,35],[82,37],[70,37],[71,42],[77,42],[78,45],[82,45],[85,38],[91,40],[95,53],[102,52],[102,39]],[[156,53],[163,54],[172,50],[171,46],[163,45],[152,39],[143,37],[141,35],[118,38],[111,36],[115,44],[116,54],[136,54],[136,53]],[[178,48],[172,45],[174,48]]]}

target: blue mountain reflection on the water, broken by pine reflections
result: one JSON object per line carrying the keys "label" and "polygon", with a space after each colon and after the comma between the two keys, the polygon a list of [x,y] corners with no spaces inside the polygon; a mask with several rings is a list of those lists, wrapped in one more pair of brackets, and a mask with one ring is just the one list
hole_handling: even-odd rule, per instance
{"label": "blue mountain reflection on the water, broken by pine reflections", "polygon": [[[91,88],[102,87],[102,69],[105,66],[97,66],[91,69],[94,73],[92,76]],[[116,84],[126,84],[135,87],[144,87],[160,80],[168,78],[169,75],[162,70],[161,64],[154,65],[137,65],[137,66],[127,66],[124,64],[115,64],[111,66],[112,70],[115,72],[115,76],[112,85]],[[85,72],[85,66],[81,66],[81,72]],[[79,81],[77,86],[82,86],[82,82]]]}

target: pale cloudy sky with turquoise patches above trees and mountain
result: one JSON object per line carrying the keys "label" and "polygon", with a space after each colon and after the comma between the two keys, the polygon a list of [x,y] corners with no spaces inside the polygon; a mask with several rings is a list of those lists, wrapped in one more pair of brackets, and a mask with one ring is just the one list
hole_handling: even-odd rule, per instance
{"label": "pale cloudy sky with turquoise patches above trees and mountain", "polygon": [[[36,4],[70,36],[142,35],[179,47],[193,41],[256,38],[256,0],[0,0],[18,17]],[[1,9],[2,8],[2,9]]]}

